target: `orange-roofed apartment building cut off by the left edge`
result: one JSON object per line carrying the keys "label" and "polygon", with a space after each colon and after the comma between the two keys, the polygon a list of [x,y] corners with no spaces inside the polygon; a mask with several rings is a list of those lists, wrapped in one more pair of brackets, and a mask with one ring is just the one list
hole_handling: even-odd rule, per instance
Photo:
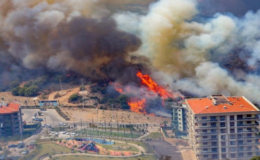
{"label": "orange-roofed apartment building cut off by the left edge", "polygon": [[20,103],[0,104],[0,137],[22,136],[23,121]]}

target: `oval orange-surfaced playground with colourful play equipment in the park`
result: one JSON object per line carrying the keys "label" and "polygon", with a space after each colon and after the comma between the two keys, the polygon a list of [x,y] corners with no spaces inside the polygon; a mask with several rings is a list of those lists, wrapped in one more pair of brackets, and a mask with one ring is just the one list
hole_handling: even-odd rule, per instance
{"label": "oval orange-surfaced playground with colourful play equipment in the park", "polygon": [[[79,152],[99,154],[99,155],[132,156],[138,154],[138,152],[134,152],[136,151],[136,148],[130,146],[133,144],[126,143],[126,145],[114,145],[115,142],[107,141],[105,139],[66,138],[63,141],[58,141],[56,143],[58,145],[70,148],[72,149],[72,151],[77,150]],[[106,145],[110,145],[109,149],[105,147]]]}

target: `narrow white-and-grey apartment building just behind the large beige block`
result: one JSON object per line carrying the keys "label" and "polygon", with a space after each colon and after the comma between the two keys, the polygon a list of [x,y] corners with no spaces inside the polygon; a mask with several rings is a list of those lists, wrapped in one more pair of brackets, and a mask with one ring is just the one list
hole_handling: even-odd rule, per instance
{"label": "narrow white-and-grey apartment building just behind the large beige block", "polygon": [[187,134],[186,122],[187,107],[184,101],[177,102],[172,105],[172,128]]}

